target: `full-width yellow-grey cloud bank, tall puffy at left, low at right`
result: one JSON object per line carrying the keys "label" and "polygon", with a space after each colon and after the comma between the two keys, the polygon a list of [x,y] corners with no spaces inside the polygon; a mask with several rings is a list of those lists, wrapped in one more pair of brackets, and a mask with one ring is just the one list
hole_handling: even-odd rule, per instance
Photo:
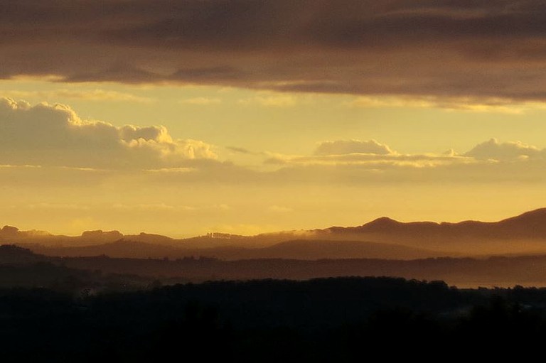
{"label": "full-width yellow-grey cloud bank, tall puffy at left, low at right", "polygon": [[[127,183],[141,178],[164,186],[213,183],[257,188],[296,183],[546,181],[546,149],[520,141],[491,139],[466,152],[446,153],[402,153],[373,139],[322,141],[307,155],[239,146],[223,152],[218,155],[204,141],[175,139],[164,126],[114,126],[81,119],[63,104],[32,106],[0,99],[0,174],[5,184],[28,183],[28,175],[35,175],[36,183],[49,178],[53,184],[62,183],[66,175],[79,175],[82,183],[127,177],[132,180]],[[245,159],[244,165],[229,161],[240,155],[254,159],[250,163]]]}

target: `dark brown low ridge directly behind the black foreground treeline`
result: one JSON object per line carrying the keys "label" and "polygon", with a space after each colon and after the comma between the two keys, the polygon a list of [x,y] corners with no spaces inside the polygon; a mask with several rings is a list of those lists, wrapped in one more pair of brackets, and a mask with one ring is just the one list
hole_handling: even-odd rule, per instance
{"label": "dark brown low ridge directly behind the black foreground treeline", "polygon": [[399,276],[442,280],[459,288],[546,286],[546,256],[485,259],[246,259],[208,257],[129,259],[109,256],[54,257],[13,245],[0,246],[0,287],[25,286],[109,291],[153,284],[279,278],[306,280],[340,276]]}

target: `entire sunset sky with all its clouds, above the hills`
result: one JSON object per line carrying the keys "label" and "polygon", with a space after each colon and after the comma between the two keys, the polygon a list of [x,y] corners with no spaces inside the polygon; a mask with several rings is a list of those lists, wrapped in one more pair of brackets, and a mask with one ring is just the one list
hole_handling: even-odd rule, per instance
{"label": "entire sunset sky with all its clouds, above the hills", "polygon": [[542,1],[0,1],[0,224],[187,237],[546,206]]}

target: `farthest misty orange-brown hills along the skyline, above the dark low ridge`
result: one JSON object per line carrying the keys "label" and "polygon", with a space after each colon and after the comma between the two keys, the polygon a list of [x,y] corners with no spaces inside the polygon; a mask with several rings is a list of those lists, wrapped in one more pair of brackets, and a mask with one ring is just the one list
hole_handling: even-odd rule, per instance
{"label": "farthest misty orange-brown hills along the skyline, above the dark low ridge", "polygon": [[372,256],[412,259],[441,254],[542,254],[546,253],[546,208],[498,222],[398,222],[381,217],[357,227],[329,227],[255,236],[210,233],[187,239],[146,233],[124,235],[115,230],[100,229],[70,237],[43,231],[20,231],[16,227],[5,226],[0,229],[0,243],[33,246],[33,249],[45,254],[154,258],[178,258],[193,254],[222,259]]}

